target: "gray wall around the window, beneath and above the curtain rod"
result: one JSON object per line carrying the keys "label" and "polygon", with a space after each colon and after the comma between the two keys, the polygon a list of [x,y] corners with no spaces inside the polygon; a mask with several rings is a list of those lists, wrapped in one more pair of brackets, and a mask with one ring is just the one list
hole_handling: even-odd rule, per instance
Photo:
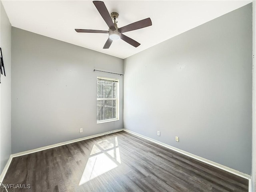
{"label": "gray wall around the window, beneath and above the curtain rod", "polygon": [[[12,153],[123,128],[96,124],[97,76],[123,76],[123,60],[12,28]],[[79,129],[83,128],[83,133]]]}

